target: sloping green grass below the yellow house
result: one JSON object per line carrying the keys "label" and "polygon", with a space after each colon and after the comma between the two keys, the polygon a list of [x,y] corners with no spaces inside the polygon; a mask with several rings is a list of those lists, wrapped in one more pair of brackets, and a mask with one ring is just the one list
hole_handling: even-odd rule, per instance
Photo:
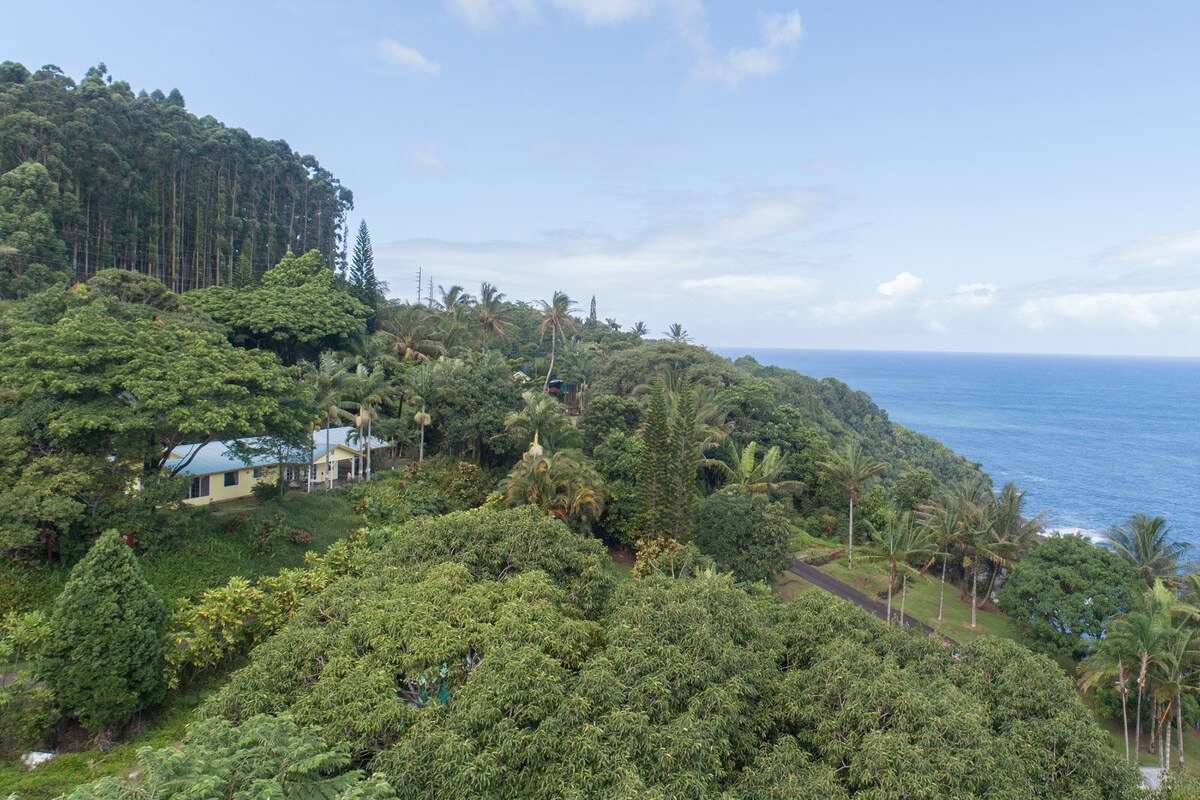
{"label": "sloping green grass below the yellow house", "polygon": [[[264,521],[287,513],[283,534],[262,555],[254,554],[254,540]],[[229,523],[244,522],[234,533]],[[283,503],[265,505],[239,501],[235,509],[202,516],[175,541],[142,553],[142,571],[167,603],[191,597],[234,576],[257,578],[283,567],[300,566],[307,551],[323,552],[344,539],[361,522],[342,492],[290,494]],[[311,545],[293,545],[287,531],[296,528],[312,534]],[[0,616],[10,610],[49,610],[71,570],[59,564],[24,564],[0,560]],[[2,795],[0,795],[2,796]]]}

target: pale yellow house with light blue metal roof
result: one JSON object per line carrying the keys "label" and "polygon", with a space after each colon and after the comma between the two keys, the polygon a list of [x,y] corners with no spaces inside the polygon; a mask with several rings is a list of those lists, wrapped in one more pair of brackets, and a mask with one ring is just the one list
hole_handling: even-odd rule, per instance
{"label": "pale yellow house with light blue metal roof", "polygon": [[[192,505],[250,497],[257,483],[276,479],[281,461],[283,477],[292,485],[311,488],[326,483],[330,476],[335,481],[361,477],[365,443],[359,439],[358,429],[330,428],[328,449],[325,433],[324,428],[313,431],[312,449],[307,452],[288,449],[280,453],[264,438],[180,445],[172,451],[167,467],[191,458],[176,475],[192,479],[186,500]],[[389,446],[383,439],[371,437],[372,452]]]}

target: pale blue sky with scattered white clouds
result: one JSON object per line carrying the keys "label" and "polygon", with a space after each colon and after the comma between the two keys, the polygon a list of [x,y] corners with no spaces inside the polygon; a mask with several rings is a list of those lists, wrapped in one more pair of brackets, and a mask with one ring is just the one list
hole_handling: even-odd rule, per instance
{"label": "pale blue sky with scattered white clouds", "polygon": [[1200,356],[1200,4],[13,4],[0,59],[314,155],[397,299],[710,347]]}

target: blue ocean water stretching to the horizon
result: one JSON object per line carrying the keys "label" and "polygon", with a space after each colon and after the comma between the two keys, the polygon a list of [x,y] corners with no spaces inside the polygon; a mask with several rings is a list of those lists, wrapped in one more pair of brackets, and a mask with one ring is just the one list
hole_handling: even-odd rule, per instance
{"label": "blue ocean water stretching to the horizon", "polygon": [[[1050,527],[1141,512],[1200,546],[1200,359],[718,349],[838,378],[888,416],[1027,489]],[[1200,554],[1200,547],[1194,554]]]}

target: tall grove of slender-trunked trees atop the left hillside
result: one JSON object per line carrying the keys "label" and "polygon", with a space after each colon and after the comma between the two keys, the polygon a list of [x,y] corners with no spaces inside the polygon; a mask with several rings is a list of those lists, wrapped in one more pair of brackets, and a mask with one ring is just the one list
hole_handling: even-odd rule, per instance
{"label": "tall grove of slender-trunked trees atop the left hillside", "polygon": [[198,118],[178,90],[0,64],[0,245],[18,251],[0,297],[110,267],[185,291],[232,283],[239,257],[260,275],[313,248],[335,266],[353,205],[312,156]]}

